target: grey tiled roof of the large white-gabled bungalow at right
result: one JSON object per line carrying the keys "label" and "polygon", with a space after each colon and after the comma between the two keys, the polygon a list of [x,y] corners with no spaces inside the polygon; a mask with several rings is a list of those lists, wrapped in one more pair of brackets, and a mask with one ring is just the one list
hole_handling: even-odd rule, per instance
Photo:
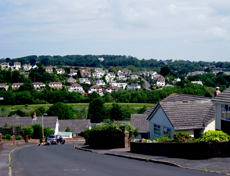
{"label": "grey tiled roof of the large white-gabled bungalow at right", "polygon": [[172,94],[159,102],[151,115],[161,107],[175,129],[204,128],[215,120],[214,106],[210,98]]}

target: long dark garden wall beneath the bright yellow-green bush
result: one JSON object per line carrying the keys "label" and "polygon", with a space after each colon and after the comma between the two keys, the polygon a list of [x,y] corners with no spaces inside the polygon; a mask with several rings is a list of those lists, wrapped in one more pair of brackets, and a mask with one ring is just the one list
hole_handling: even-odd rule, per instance
{"label": "long dark garden wall beneath the bright yellow-green bush", "polygon": [[131,142],[130,151],[175,158],[229,157],[230,142],[215,143],[141,143]]}

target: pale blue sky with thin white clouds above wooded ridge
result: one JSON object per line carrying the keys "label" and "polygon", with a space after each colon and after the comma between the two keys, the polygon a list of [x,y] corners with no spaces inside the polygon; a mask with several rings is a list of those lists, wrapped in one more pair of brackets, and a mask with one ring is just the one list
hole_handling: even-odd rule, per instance
{"label": "pale blue sky with thin white clouds above wooded ridge", "polygon": [[0,0],[0,58],[230,61],[230,0]]}

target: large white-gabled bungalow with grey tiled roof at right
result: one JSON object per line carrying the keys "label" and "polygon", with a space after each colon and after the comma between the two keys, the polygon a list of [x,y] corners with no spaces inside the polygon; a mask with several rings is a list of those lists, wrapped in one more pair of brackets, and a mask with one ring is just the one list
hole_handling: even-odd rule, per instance
{"label": "large white-gabled bungalow with grey tiled roof at right", "polygon": [[180,131],[199,137],[205,131],[215,130],[214,106],[206,97],[171,94],[145,114],[151,140],[164,135],[172,138]]}

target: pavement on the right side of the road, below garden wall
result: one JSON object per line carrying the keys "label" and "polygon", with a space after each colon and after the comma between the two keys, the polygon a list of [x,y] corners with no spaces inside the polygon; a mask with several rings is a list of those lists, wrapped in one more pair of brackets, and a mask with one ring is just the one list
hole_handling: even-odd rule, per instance
{"label": "pavement on the right side of the road, below garden wall", "polygon": [[98,154],[113,155],[129,159],[143,160],[146,162],[167,164],[186,169],[200,170],[203,172],[214,172],[230,175],[230,157],[209,159],[184,159],[132,153],[130,152],[130,148],[117,148],[107,150],[89,149],[88,146],[84,145],[83,143],[74,143],[74,146],[76,149],[94,152]]}

